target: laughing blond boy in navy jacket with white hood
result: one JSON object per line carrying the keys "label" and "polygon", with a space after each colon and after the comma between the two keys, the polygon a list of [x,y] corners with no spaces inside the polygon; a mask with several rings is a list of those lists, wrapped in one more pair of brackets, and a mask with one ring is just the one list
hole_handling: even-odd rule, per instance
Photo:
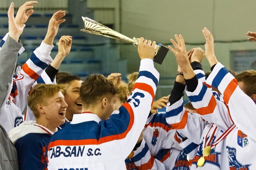
{"label": "laughing blond boy in navy jacket with white hood", "polygon": [[25,121],[9,133],[18,155],[19,170],[42,170],[44,152],[51,135],[65,121],[67,104],[62,87],[56,84],[37,84],[28,96],[28,106],[36,117]]}

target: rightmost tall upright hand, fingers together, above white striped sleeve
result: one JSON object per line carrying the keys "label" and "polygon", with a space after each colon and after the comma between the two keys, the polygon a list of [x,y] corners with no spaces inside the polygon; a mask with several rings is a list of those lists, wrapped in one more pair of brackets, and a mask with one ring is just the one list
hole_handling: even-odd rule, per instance
{"label": "rightmost tall upright hand, fingers together, above white striped sleeve", "polygon": [[214,53],[214,41],[213,41],[213,36],[210,33],[210,31],[204,27],[204,29],[202,30],[203,34],[204,34],[204,38],[206,40],[206,43],[204,45],[205,48],[205,56],[210,64],[210,66],[213,66],[214,64],[217,64],[218,61],[215,57],[215,53]]}

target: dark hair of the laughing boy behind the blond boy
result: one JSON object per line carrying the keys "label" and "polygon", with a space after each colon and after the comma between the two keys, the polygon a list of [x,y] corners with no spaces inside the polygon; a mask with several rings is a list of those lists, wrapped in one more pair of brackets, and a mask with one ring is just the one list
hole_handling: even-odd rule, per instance
{"label": "dark hair of the laughing boy behind the blond boy", "polygon": [[68,72],[58,72],[56,74],[57,84],[69,84],[73,80],[82,80],[79,76],[70,74]]}

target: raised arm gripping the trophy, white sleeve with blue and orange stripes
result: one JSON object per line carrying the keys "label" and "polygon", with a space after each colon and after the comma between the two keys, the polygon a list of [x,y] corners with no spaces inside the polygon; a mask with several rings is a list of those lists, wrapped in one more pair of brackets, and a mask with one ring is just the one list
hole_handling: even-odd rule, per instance
{"label": "raised arm gripping the trophy, white sleeve with blue and orange stripes", "polygon": [[138,52],[140,72],[134,84],[134,90],[126,104],[119,108],[118,114],[112,114],[104,125],[116,127],[123,160],[134,148],[146,123],[148,113],[154,101],[159,73],[154,68],[154,45],[156,42],[140,38]]}

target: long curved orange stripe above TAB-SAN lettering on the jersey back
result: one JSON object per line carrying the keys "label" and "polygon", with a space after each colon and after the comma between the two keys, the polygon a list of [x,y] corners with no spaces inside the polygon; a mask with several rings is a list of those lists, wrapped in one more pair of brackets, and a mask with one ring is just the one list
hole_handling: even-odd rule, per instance
{"label": "long curved orange stripe above TAB-SAN lettering on the jersey back", "polygon": [[57,140],[57,141],[50,142],[49,143],[49,148],[60,146],[60,145],[70,146],[70,144],[72,144],[72,146],[73,145],[74,146],[78,146],[78,145],[100,145],[102,143],[106,143],[106,142],[110,142],[110,141],[114,141],[114,140],[118,140],[118,139],[124,139],[126,137],[126,135],[128,134],[128,132],[132,129],[132,125],[134,123],[134,113],[133,113],[132,107],[130,106],[129,103],[125,103],[125,104],[123,104],[123,106],[128,110],[128,112],[130,114],[129,125],[128,125],[126,131],[124,131],[123,133],[117,134],[117,135],[102,137],[99,140],[97,140],[97,139]]}

